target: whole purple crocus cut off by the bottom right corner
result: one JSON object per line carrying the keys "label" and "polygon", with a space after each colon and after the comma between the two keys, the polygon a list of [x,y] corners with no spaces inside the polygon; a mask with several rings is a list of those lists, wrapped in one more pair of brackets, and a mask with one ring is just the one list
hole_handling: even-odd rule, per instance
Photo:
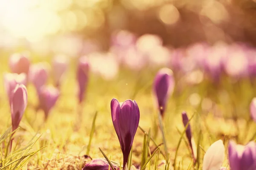
{"label": "whole purple crocus cut off by the bottom right corner", "polygon": [[249,142],[243,146],[233,141],[228,145],[228,156],[231,170],[256,169],[256,143]]}

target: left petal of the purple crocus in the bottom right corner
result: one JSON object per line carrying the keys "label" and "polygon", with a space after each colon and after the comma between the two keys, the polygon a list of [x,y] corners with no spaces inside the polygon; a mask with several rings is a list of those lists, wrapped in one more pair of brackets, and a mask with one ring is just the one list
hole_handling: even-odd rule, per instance
{"label": "left petal of the purple crocus in the bottom right corner", "polygon": [[240,170],[240,159],[236,150],[236,143],[230,141],[228,144],[228,157],[230,162],[230,168],[232,170]]}

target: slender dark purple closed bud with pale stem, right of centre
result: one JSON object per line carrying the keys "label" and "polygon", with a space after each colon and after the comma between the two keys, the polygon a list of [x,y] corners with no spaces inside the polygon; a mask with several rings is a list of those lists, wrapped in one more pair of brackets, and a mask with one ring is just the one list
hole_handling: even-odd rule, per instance
{"label": "slender dark purple closed bud with pale stem, right of centre", "polygon": [[[182,112],[182,122],[185,127],[189,123],[189,118],[188,118],[186,112]],[[186,128],[186,137],[189,141],[189,147],[192,150],[192,156],[193,156],[193,159],[195,162],[197,159],[197,151],[196,151],[195,139],[192,137],[192,131],[191,131],[190,124]]]}

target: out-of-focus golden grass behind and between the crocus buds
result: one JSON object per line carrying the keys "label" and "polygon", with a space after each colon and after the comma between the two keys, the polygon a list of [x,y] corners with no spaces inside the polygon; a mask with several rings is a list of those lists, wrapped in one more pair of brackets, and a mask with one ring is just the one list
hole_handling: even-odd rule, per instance
{"label": "out-of-focus golden grass behind and between the crocus buds", "polygon": [[[7,53],[1,53],[0,73],[9,71]],[[51,57],[33,57],[32,62],[45,61],[51,62]],[[76,116],[78,116],[78,102],[76,97],[76,59],[70,62],[70,69],[61,86],[61,96],[55,108],[50,113],[49,119],[44,123],[44,113],[35,111],[38,99],[32,85],[28,86],[29,105],[20,124],[20,130],[15,134],[15,142],[22,139],[21,145],[26,145],[35,133],[42,134],[35,149],[47,146],[39,151],[28,163],[28,169],[81,169],[86,159],[87,144],[90,138],[90,130],[93,122],[94,113],[98,116],[95,124],[95,134],[90,146],[90,157],[102,157],[99,147],[104,153],[116,162],[122,161],[122,152],[111,121],[110,102],[112,98],[119,101],[135,96],[135,100],[140,108],[140,127],[148,131],[157,123],[154,115],[157,111],[151,96],[151,83],[157,68],[151,71],[141,72],[130,71],[122,68],[116,79],[105,81],[97,75],[90,74],[90,82],[87,89],[86,101],[83,103],[83,114],[81,128],[74,131]],[[139,81],[138,81],[139,80]],[[170,165],[173,164],[175,151],[180,133],[176,127],[183,131],[184,127],[181,120],[181,112],[187,111],[189,117],[194,112],[196,116],[192,119],[192,132],[197,144],[201,135],[200,146],[207,150],[210,144],[217,139],[224,140],[225,148],[229,139],[235,139],[241,144],[245,144],[255,133],[256,125],[251,123],[248,127],[249,104],[251,99],[256,96],[255,79],[243,79],[234,81],[229,77],[223,77],[218,85],[212,84],[205,79],[199,85],[188,85],[184,79],[176,80],[175,93],[169,99],[168,107],[164,119],[166,131],[166,141],[170,153]],[[51,79],[49,79],[49,84]],[[149,86],[148,86],[149,85]],[[143,91],[141,91],[143,89]],[[134,93],[137,95],[134,95]],[[136,94],[135,93],[135,94]],[[192,105],[189,100],[191,94],[198,94],[201,99],[198,105]],[[0,74],[0,134],[3,134],[11,125],[10,109],[6,93],[3,88],[3,75]],[[208,111],[202,109],[201,104],[204,98],[212,100],[212,108]],[[152,129],[152,128],[151,128]],[[249,129],[249,130],[248,130]],[[201,132],[199,134],[199,132]],[[139,165],[143,150],[144,133],[138,129],[134,138],[132,164]],[[158,133],[157,144],[162,143]],[[154,148],[152,142],[150,142]],[[152,149],[151,148],[151,149]],[[163,145],[160,147],[164,151]],[[202,163],[203,154],[201,151],[200,162]],[[227,153],[227,150],[226,150]],[[164,160],[159,154],[159,160]],[[181,142],[177,153],[176,165],[180,169],[191,168],[191,156],[184,141]],[[152,161],[151,163],[153,163]],[[223,166],[227,166],[227,157]],[[159,162],[160,164],[160,162]],[[153,168],[153,164],[152,167]],[[159,169],[164,169],[164,165]],[[196,168],[195,168],[196,169]]]}

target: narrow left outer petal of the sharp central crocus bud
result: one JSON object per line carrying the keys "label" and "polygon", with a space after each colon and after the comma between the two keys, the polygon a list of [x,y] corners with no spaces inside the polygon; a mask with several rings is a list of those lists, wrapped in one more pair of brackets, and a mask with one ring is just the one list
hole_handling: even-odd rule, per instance
{"label": "narrow left outer petal of the sharp central crocus bud", "polygon": [[110,107],[111,107],[111,117],[112,117],[113,126],[116,130],[117,137],[120,141],[120,138],[121,138],[120,129],[119,129],[120,104],[119,104],[118,100],[112,99]]}

